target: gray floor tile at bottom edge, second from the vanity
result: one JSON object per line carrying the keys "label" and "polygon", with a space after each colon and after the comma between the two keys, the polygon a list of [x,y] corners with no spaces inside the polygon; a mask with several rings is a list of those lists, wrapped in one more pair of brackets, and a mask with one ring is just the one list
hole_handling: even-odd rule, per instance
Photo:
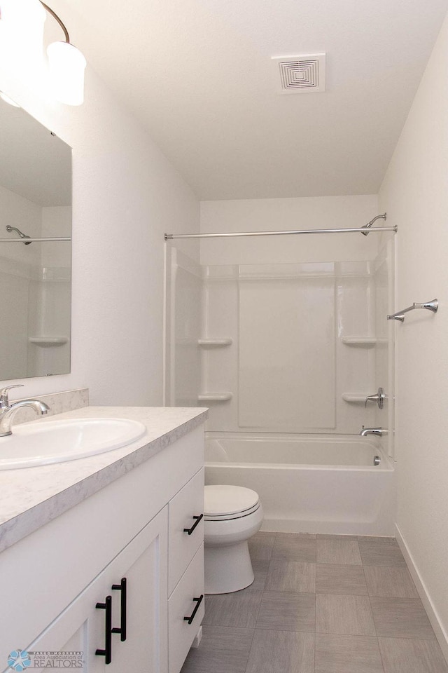
{"label": "gray floor tile at bottom edge, second from the vanity", "polygon": [[314,673],[314,634],[255,631],[246,673],[298,672]]}

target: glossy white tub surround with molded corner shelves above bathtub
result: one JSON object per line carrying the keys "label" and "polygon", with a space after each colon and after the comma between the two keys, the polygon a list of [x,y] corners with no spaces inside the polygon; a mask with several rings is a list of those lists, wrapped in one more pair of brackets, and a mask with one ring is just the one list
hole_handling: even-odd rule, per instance
{"label": "glossy white tub surround with molded corner shelves above bathtub", "polygon": [[[381,250],[373,261],[201,267],[170,252],[170,404],[209,405],[211,432],[344,435],[375,425],[367,395],[381,386],[393,396],[391,253]],[[387,404],[378,424],[392,427]]]}

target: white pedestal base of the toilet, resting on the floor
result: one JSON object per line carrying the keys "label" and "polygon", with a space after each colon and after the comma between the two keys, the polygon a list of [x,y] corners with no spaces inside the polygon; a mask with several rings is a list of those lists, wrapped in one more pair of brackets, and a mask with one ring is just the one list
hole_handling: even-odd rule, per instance
{"label": "white pedestal base of the toilet, resting on the floor", "polygon": [[253,583],[247,541],[225,547],[204,548],[205,593],[230,594]]}

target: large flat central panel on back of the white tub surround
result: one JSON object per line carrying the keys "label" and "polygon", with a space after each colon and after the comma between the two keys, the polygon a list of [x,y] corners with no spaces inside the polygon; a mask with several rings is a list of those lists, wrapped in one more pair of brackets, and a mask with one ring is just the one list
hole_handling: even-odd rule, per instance
{"label": "large flat central panel on back of the white tub surround", "polygon": [[239,281],[239,427],[334,430],[335,280]]}

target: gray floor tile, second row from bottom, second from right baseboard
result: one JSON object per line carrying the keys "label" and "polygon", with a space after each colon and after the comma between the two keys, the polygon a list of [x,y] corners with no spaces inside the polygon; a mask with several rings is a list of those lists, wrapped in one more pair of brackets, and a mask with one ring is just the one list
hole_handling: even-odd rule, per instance
{"label": "gray floor tile, second row from bottom, second from right baseboard", "polygon": [[316,594],[316,632],[376,635],[368,597]]}

